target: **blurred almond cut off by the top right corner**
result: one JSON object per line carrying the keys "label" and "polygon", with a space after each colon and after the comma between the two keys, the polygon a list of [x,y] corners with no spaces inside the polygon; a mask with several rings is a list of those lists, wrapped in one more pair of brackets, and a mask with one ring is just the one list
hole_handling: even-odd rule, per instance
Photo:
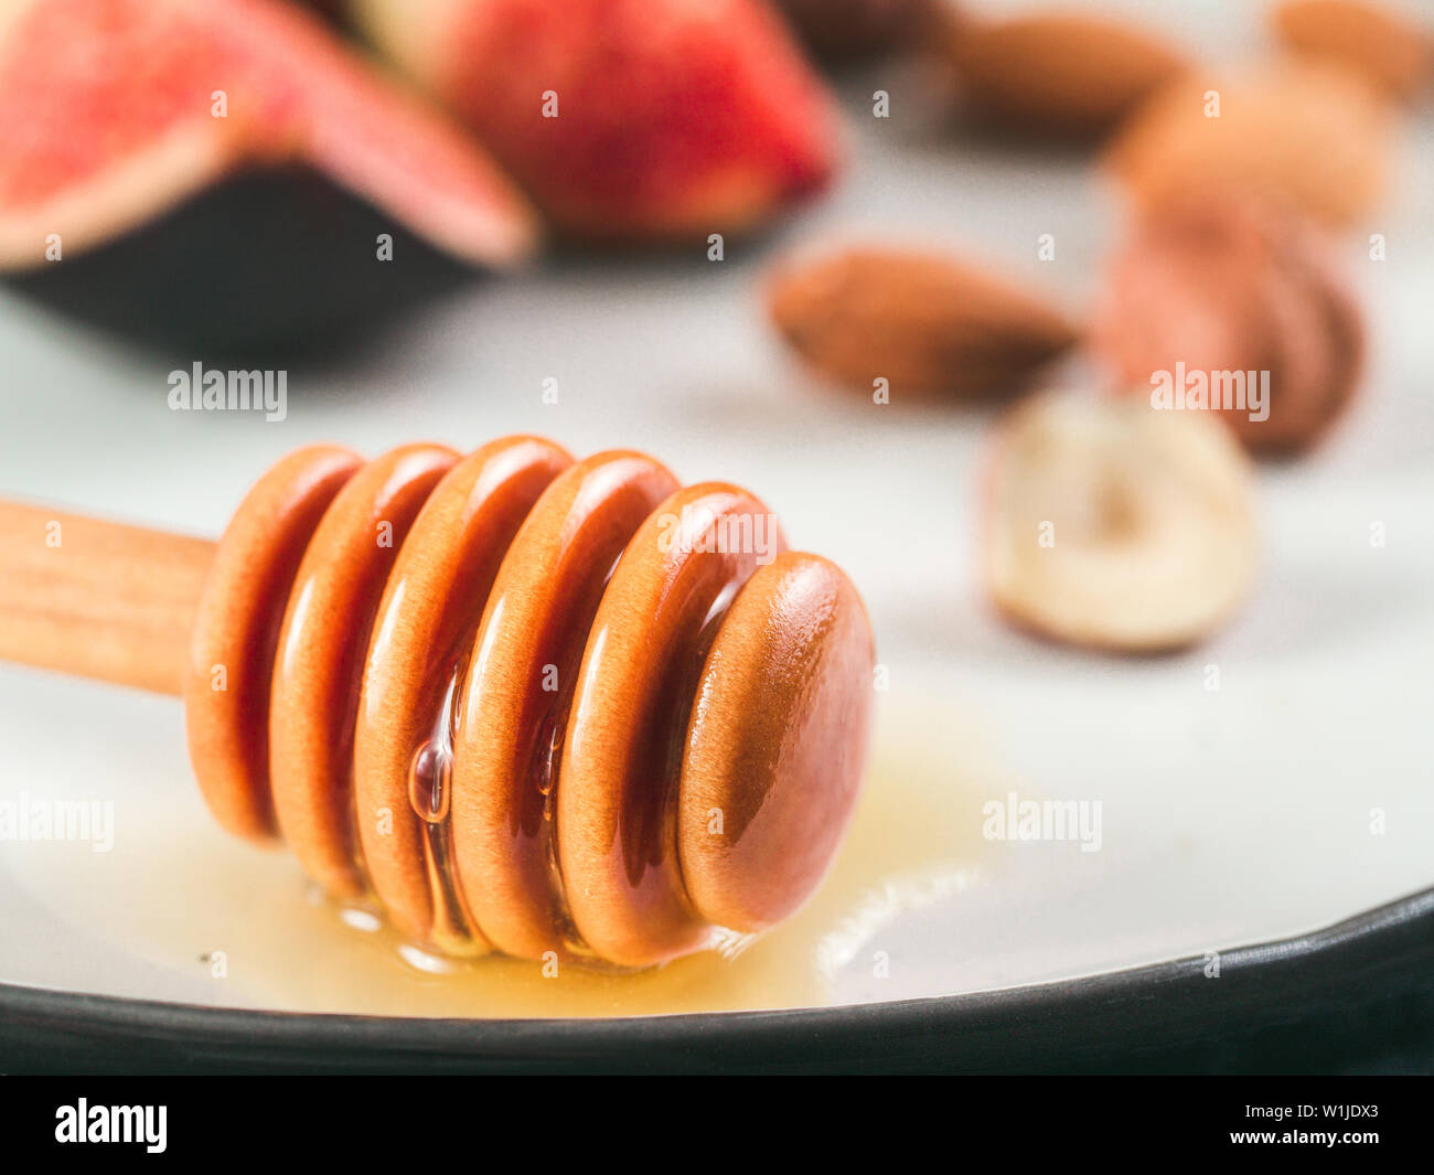
{"label": "blurred almond cut off by the top right corner", "polygon": [[1286,0],[1272,16],[1291,49],[1339,62],[1410,100],[1434,73],[1434,37],[1401,13],[1369,0]]}

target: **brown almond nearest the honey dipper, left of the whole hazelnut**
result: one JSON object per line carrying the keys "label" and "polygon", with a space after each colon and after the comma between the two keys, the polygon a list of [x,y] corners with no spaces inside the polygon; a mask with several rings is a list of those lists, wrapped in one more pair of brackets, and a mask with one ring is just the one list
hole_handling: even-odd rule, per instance
{"label": "brown almond nearest the honey dipper, left of the whole hazelnut", "polygon": [[928,253],[853,247],[782,267],[773,323],[817,370],[893,399],[1008,395],[1077,341],[1076,326],[1002,278]]}

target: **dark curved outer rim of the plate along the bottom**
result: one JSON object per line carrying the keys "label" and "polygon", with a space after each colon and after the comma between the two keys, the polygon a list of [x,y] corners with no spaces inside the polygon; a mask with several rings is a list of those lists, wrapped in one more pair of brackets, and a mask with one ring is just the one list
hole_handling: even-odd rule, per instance
{"label": "dark curved outer rim of the plate along the bottom", "polygon": [[[1322,930],[1057,983],[614,1020],[267,1013],[0,984],[9,1073],[1308,1072],[1434,1057],[1434,889]],[[1421,1044],[1423,1042],[1423,1044]],[[1390,1060],[1390,1047],[1412,1056]],[[1425,1047],[1427,1046],[1427,1047]]]}

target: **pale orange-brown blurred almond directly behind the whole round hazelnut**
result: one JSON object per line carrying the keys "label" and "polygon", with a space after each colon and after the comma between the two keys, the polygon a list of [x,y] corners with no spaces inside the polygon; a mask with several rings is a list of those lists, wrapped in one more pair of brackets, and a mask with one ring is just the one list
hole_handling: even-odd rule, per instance
{"label": "pale orange-brown blurred almond directly behind the whole round hazelnut", "polygon": [[1106,164],[1146,205],[1223,187],[1344,225],[1384,194],[1391,122],[1388,105],[1362,79],[1291,60],[1226,82],[1170,83],[1131,116]]}

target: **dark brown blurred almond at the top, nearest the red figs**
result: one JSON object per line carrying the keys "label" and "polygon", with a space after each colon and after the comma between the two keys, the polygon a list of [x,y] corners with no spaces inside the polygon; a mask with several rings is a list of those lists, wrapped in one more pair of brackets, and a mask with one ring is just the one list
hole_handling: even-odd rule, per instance
{"label": "dark brown blurred almond at the top, nearest the red figs", "polygon": [[999,22],[958,13],[948,27],[946,52],[971,106],[1038,133],[1107,131],[1186,67],[1154,34],[1081,13]]}

